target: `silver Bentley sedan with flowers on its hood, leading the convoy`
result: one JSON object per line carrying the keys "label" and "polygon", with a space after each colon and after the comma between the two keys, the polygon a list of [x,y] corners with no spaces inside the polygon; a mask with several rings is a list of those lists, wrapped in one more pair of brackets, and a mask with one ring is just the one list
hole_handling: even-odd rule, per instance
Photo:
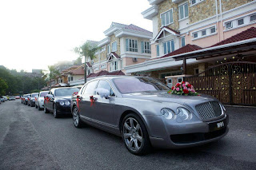
{"label": "silver Bentley sedan with flowers on its hood, leading the convoy", "polygon": [[95,78],[72,97],[74,126],[92,125],[122,136],[135,155],[151,147],[185,148],[226,136],[229,119],[217,99],[169,90],[151,77]]}

